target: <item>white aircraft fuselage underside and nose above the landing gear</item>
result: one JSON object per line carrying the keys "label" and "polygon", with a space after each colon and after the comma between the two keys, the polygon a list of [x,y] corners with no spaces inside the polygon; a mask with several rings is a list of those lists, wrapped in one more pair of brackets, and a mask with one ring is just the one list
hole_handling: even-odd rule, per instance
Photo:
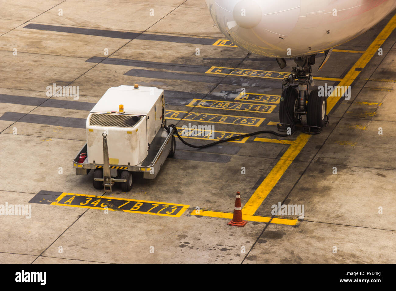
{"label": "white aircraft fuselage underside and nose above the landing gear", "polygon": [[396,0],[206,0],[234,44],[273,58],[312,55],[355,38],[396,8]]}

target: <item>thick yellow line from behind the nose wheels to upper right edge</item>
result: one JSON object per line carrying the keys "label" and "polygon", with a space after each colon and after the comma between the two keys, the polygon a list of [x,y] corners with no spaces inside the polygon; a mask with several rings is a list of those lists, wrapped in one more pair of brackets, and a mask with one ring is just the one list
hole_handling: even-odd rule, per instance
{"label": "thick yellow line from behind the nose wheels to upper right edge", "polygon": [[[385,40],[390,36],[392,31],[396,28],[396,14],[390,19],[385,28],[378,34],[375,40],[370,44],[366,51],[360,56],[358,61],[352,66],[348,73],[346,73],[343,80],[338,84],[338,86],[350,86],[353,81],[359,76],[360,72],[366,67],[367,63],[371,60],[374,55],[377,55],[378,49],[381,48]],[[360,68],[359,70],[355,70]],[[327,98],[327,114],[334,107],[334,105],[339,101],[341,97],[334,96],[331,94]]]}

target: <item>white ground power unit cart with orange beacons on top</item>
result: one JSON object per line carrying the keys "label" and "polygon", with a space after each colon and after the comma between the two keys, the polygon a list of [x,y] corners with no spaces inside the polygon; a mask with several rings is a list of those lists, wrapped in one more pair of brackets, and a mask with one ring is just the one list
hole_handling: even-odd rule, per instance
{"label": "white ground power unit cart with orange beacons on top", "polygon": [[88,115],[87,143],[73,160],[76,175],[93,169],[93,186],[106,192],[115,182],[131,190],[131,172],[154,179],[176,150],[173,128],[165,126],[164,90],[111,87]]}

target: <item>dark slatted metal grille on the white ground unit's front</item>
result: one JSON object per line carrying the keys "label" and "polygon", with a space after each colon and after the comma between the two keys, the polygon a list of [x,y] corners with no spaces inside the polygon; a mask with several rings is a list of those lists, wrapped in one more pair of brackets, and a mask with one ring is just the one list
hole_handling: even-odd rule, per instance
{"label": "dark slatted metal grille on the white ground unit's front", "polygon": [[112,126],[112,127],[133,127],[142,116],[121,115],[121,114],[98,114],[94,113],[89,118],[89,125]]}

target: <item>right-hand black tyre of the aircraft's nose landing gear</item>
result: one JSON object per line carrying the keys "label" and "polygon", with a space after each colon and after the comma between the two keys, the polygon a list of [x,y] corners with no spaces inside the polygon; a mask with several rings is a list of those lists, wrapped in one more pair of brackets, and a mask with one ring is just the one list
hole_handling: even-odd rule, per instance
{"label": "right-hand black tyre of the aircraft's nose landing gear", "polygon": [[309,93],[307,108],[307,123],[309,126],[324,127],[326,122],[327,100],[325,96],[318,95],[315,89]]}

